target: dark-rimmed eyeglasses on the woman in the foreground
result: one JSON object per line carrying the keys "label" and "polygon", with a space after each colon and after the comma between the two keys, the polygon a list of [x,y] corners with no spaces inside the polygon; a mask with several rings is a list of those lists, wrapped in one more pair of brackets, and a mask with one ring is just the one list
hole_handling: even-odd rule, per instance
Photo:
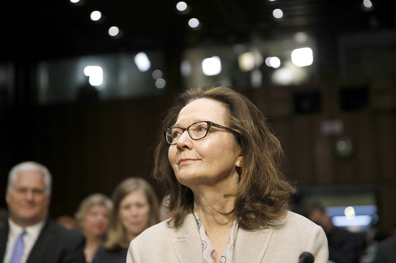
{"label": "dark-rimmed eyeglasses on the woman in the foreground", "polygon": [[214,122],[210,122],[208,120],[201,121],[201,122],[194,122],[187,128],[180,128],[180,127],[172,127],[168,130],[164,131],[165,139],[169,144],[176,144],[179,141],[180,136],[183,134],[184,131],[187,130],[188,135],[193,140],[199,140],[205,138],[211,127],[216,127],[224,130],[232,131],[230,128],[221,126],[220,124],[216,124]]}

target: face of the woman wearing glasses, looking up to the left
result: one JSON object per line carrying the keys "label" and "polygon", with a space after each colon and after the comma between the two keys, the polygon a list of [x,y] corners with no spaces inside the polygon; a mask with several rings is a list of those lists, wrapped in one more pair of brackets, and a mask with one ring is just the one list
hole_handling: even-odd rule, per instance
{"label": "face of the woman wearing glasses, looking up to the left", "polygon": [[[185,128],[194,122],[209,120],[227,127],[227,114],[223,103],[201,98],[181,109],[173,126]],[[238,182],[236,166],[240,166],[240,149],[233,136],[228,130],[212,127],[207,137],[193,140],[185,131],[168,150],[177,180],[189,188],[197,184],[213,185],[222,180]]]}

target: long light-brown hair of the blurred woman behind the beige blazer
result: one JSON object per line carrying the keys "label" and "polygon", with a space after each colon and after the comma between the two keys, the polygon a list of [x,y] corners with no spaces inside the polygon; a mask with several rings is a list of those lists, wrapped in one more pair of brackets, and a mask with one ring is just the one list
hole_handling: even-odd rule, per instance
{"label": "long light-brown hair of the blurred woman behind the beige blazer", "polygon": [[147,201],[150,204],[149,226],[160,222],[158,198],[146,180],[143,178],[127,178],[120,182],[112,195],[113,210],[110,216],[110,227],[107,234],[107,241],[103,246],[108,250],[126,249],[131,240],[128,239],[126,229],[120,219],[120,203],[124,197],[136,190],[145,192]]}

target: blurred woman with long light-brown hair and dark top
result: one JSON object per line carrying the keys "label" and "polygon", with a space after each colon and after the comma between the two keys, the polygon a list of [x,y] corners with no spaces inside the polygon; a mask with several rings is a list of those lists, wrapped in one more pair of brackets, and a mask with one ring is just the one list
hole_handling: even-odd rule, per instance
{"label": "blurred woman with long light-brown hair and dark top", "polygon": [[160,222],[157,196],[143,178],[128,178],[118,184],[112,202],[107,241],[92,263],[125,263],[131,240]]}

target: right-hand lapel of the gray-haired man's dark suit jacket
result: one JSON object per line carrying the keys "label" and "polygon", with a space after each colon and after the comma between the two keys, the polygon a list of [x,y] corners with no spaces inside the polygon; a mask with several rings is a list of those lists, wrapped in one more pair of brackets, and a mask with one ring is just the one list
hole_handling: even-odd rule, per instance
{"label": "right-hand lapel of the gray-haired man's dark suit jacket", "polygon": [[46,224],[34,244],[32,251],[30,251],[29,257],[26,263],[37,263],[42,261],[43,255],[51,254],[51,249],[49,249],[49,242],[52,238],[52,224],[55,224],[50,219],[47,219]]}

